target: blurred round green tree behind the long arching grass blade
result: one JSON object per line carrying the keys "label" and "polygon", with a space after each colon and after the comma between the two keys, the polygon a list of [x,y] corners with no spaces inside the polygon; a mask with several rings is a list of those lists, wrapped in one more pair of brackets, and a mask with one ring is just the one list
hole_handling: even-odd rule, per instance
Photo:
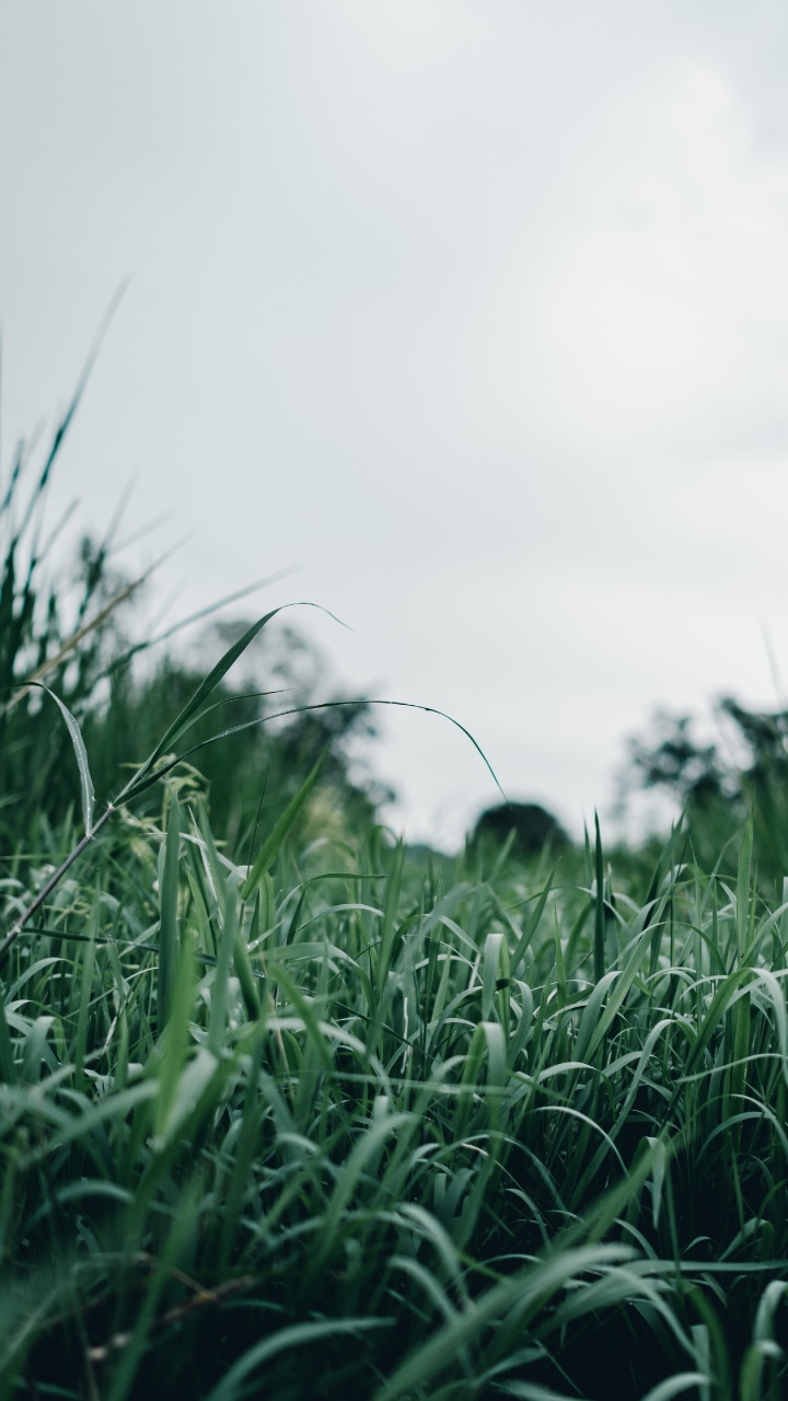
{"label": "blurred round green tree behind the long arching grass blade", "polygon": [[[108,693],[84,722],[97,787],[118,787],[121,766],[144,759],[248,626],[247,619],[213,622],[188,653],[170,653],[143,675],[130,665],[109,668]],[[360,741],[377,733],[369,702],[330,689],[317,649],[292,628],[273,625],[262,632],[237,670],[178,743],[181,754],[202,745],[189,762],[206,780],[215,829],[231,846],[244,841],[261,803],[262,820],[275,818],[321,754],[310,804],[320,808],[317,828],[341,836],[359,822],[370,824],[377,807],[394,794],[372,776],[362,752]],[[222,737],[206,743],[215,736]]]}

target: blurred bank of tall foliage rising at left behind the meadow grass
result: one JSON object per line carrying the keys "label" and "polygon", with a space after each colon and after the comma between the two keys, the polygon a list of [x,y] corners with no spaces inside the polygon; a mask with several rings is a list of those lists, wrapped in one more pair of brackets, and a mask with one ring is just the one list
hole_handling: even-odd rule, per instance
{"label": "blurred bank of tall foliage rising at left behind the meadow grass", "polygon": [[[32,850],[72,810],[81,808],[90,824],[93,782],[100,800],[116,794],[123,766],[136,766],[151,752],[203,679],[184,649],[154,668],[136,664],[151,642],[132,642],[130,605],[147,577],[129,580],[112,563],[115,528],[101,544],[81,541],[66,586],[55,587],[45,576],[59,534],[45,539],[48,489],[81,388],[83,382],[38,471],[34,444],[20,443],[0,497],[0,831],[11,845],[22,839]],[[250,626],[240,621],[208,626],[198,651],[219,644],[224,654]],[[212,686],[210,709],[196,702],[189,745],[203,745],[203,790],[212,820],[230,843],[248,842],[261,800],[264,815],[276,811],[297,789],[297,775],[320,755],[315,835],[324,834],[330,811],[338,835],[345,821],[372,821],[377,804],[391,796],[355,758],[355,741],[374,733],[370,706],[320,695],[321,688],[317,654],[285,629],[266,642],[257,667],[250,665],[240,682],[224,674]],[[220,747],[209,745],[223,730],[234,733]],[[174,740],[167,736],[167,744]]]}

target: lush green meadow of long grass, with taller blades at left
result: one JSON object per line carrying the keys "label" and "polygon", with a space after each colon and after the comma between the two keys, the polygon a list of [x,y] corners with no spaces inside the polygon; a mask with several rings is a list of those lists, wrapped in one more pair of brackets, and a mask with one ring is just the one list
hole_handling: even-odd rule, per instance
{"label": "lush green meadow of long grass, with taller blades at left", "polygon": [[227,686],[273,612],[167,710],[108,548],[42,581],[70,413],[0,502],[0,1395],[785,1395],[754,820],[704,869],[686,824],[408,850],[314,726],[266,786]]}

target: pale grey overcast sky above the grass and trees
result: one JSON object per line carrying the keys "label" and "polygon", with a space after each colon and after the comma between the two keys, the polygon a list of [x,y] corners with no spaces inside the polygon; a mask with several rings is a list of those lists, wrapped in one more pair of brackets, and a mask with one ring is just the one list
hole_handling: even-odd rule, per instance
{"label": "pale grey overcast sky above the grass and trees", "polygon": [[[4,460],[130,275],[53,517],[133,478],[172,619],[300,566],[261,612],[576,831],[788,675],[787,63],[784,0],[0,0]],[[383,723],[458,839],[478,755]]]}

